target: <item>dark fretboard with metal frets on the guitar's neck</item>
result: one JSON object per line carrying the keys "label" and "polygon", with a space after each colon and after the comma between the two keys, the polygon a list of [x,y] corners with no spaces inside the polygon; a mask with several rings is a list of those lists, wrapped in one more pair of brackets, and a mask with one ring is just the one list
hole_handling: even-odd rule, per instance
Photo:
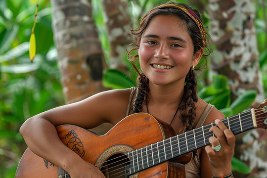
{"label": "dark fretboard with metal frets on the guitar's neck", "polygon": [[[254,128],[251,111],[225,118],[222,121],[233,134],[239,134]],[[196,128],[127,153],[131,165],[130,168],[126,170],[126,176],[210,144],[209,137],[215,136],[213,133],[209,132],[210,128],[213,126],[216,126],[215,123]]]}

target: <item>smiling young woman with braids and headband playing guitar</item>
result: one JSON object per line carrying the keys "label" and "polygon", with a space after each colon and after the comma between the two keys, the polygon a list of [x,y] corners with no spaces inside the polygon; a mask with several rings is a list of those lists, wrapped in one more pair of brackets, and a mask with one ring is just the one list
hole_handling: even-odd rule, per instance
{"label": "smiling young woman with braids and headband playing guitar", "polygon": [[[104,178],[92,164],[67,148],[55,130],[62,124],[91,129],[125,116],[146,112],[170,124],[178,134],[212,122],[211,145],[197,150],[185,165],[187,178],[230,178],[235,137],[223,124],[223,114],[198,98],[195,70],[206,48],[206,33],[197,10],[168,2],[152,9],[131,34],[139,58],[137,88],[109,90],[85,100],[48,110],[21,127],[29,148],[66,170],[72,178]],[[131,57],[132,56],[132,57]],[[130,98],[130,99],[129,99]]]}

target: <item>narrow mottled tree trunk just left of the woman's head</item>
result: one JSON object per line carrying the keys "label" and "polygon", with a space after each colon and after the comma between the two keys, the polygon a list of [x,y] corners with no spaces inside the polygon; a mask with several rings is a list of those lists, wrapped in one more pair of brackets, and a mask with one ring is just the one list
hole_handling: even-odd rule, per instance
{"label": "narrow mottled tree trunk just left of the woman's head", "polygon": [[110,67],[127,72],[123,54],[130,42],[129,30],[132,29],[127,0],[102,0],[105,23],[110,44]]}

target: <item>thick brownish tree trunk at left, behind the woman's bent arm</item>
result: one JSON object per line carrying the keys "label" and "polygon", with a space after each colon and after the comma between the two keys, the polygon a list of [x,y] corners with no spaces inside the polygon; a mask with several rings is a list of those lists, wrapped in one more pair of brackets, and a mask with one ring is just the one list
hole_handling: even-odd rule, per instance
{"label": "thick brownish tree trunk at left, behind the woman's bent arm", "polygon": [[90,0],[51,0],[53,32],[67,103],[106,90],[106,68]]}

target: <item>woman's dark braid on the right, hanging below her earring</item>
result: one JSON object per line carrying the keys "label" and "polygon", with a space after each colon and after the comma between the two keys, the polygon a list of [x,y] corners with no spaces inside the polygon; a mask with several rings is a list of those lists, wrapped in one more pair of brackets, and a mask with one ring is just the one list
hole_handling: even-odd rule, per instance
{"label": "woman's dark braid on the right, hanging below her earring", "polygon": [[189,71],[185,78],[184,93],[181,101],[181,114],[182,128],[179,133],[194,129],[194,120],[196,118],[196,103],[198,96],[196,93],[197,81],[195,79],[195,72]]}

